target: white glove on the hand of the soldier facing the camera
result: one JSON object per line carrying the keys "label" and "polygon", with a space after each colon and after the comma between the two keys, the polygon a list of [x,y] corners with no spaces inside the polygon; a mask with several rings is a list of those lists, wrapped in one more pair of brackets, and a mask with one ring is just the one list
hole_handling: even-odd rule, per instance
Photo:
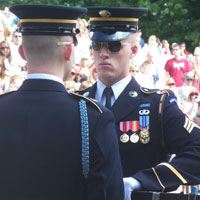
{"label": "white glove on the hand of the soldier facing the camera", "polygon": [[141,184],[138,180],[132,177],[123,178],[123,181],[124,181],[124,200],[131,200],[131,193],[134,190],[141,189]]}

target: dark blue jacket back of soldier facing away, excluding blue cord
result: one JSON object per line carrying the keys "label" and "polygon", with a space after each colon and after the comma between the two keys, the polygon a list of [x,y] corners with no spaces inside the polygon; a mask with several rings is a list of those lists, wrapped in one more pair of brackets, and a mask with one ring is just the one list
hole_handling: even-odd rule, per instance
{"label": "dark blue jacket back of soldier facing away, excluding blue cord", "polygon": [[113,115],[86,98],[90,170],[83,176],[80,99],[37,79],[0,96],[0,199],[123,199]]}

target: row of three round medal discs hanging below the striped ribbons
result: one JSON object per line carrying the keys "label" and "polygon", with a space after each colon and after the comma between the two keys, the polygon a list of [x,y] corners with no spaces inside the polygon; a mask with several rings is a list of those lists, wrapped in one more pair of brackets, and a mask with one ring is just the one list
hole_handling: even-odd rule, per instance
{"label": "row of three round medal discs hanging below the striped ribbons", "polygon": [[139,135],[136,132],[133,132],[133,134],[130,137],[127,133],[123,133],[120,136],[120,141],[122,143],[127,143],[129,140],[132,143],[137,143],[138,141],[140,141],[143,144],[147,144],[150,141],[150,133],[148,129],[142,129]]}

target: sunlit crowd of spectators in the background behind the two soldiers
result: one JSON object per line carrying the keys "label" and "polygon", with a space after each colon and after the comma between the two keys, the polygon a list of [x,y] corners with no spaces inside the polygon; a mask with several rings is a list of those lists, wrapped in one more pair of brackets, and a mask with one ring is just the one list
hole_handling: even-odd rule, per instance
{"label": "sunlit crowd of spectators in the background behind the two soldiers", "polygon": [[[19,20],[6,7],[0,11],[0,93],[16,90],[26,79],[26,60],[20,56],[22,34],[17,32]],[[88,22],[79,19],[78,46],[74,66],[66,90],[82,90],[97,80]],[[200,41],[193,52],[188,52],[185,42],[169,44],[155,35],[148,40],[137,32],[137,55],[130,62],[130,74],[143,87],[171,89],[177,104],[188,117],[200,126]],[[34,44],[33,44],[34,45]],[[41,52],[42,53],[42,52]]]}

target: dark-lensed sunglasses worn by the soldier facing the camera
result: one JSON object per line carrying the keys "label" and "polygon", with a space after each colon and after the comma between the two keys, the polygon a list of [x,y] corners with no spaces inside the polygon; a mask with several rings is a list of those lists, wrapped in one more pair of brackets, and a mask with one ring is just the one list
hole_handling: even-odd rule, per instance
{"label": "dark-lensed sunglasses worn by the soldier facing the camera", "polygon": [[120,41],[114,41],[114,42],[97,42],[97,41],[93,41],[92,42],[92,48],[95,51],[100,51],[105,44],[106,44],[107,48],[109,49],[109,51],[112,52],[112,53],[119,52],[122,46],[131,45],[129,43],[121,43]]}

